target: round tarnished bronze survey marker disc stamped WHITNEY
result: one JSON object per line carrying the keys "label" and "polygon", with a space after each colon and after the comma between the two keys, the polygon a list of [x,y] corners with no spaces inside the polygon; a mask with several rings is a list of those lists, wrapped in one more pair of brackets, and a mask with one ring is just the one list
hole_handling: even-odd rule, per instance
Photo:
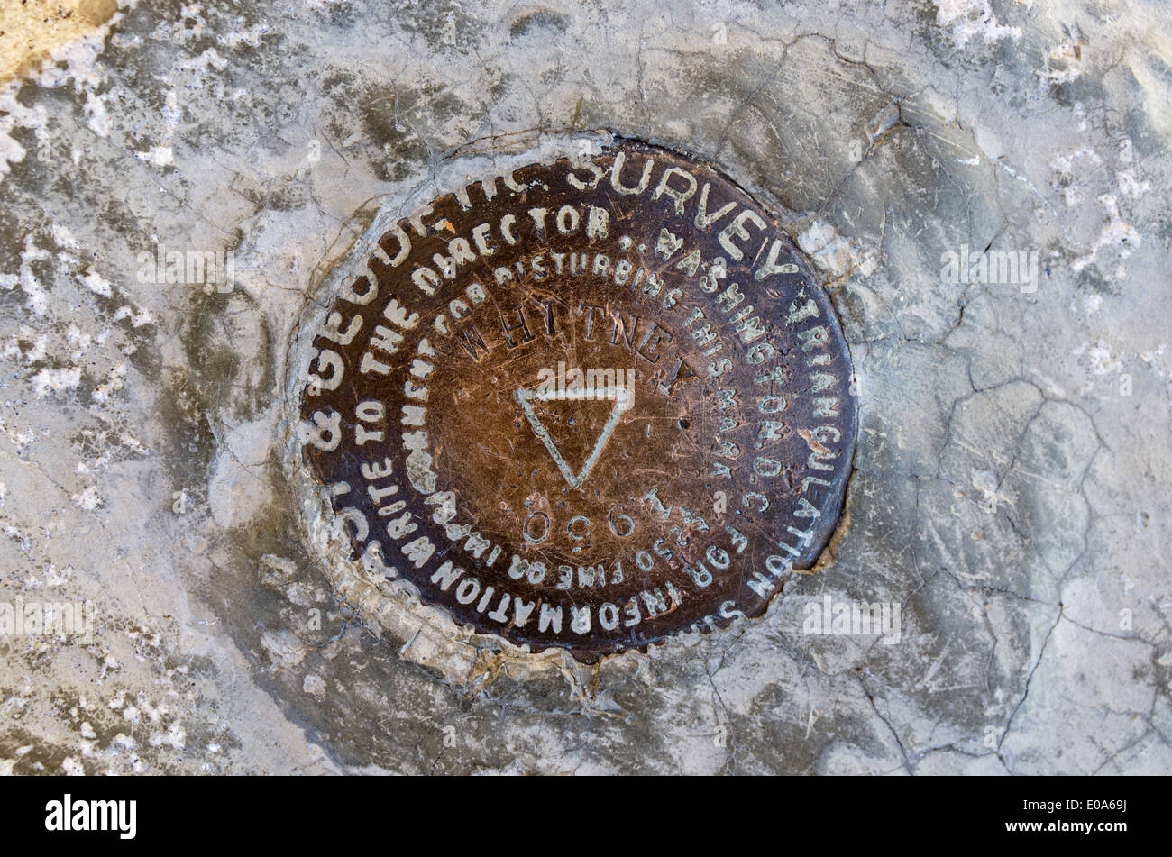
{"label": "round tarnished bronze survey marker disc stamped WHITNEY", "polygon": [[720,172],[618,140],[436,200],[314,338],[299,426],[356,556],[580,660],[762,613],[838,520],[851,363]]}

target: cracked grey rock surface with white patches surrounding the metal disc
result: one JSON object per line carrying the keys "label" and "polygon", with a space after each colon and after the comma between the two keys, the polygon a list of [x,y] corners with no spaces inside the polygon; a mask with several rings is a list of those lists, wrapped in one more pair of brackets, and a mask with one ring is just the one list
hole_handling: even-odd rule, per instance
{"label": "cracked grey rock surface with white patches surrounding the metal disc", "polygon": [[[94,609],[0,636],[0,773],[1172,770],[1159,2],[93,22],[0,84],[0,602]],[[372,628],[286,464],[299,324],[379,208],[607,130],[793,212],[825,272],[861,404],[832,556],[599,669]],[[161,246],[234,270],[168,282]],[[827,596],[898,639],[810,632]]]}

